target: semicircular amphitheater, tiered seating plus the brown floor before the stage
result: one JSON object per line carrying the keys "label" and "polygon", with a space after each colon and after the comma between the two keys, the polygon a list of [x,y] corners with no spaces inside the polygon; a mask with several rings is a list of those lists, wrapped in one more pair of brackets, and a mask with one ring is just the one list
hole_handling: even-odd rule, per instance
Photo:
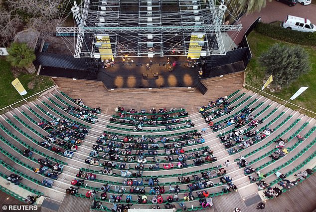
{"label": "semicircular amphitheater, tiered seating plus the brown floor before the stage", "polygon": [[[154,195],[150,193],[151,188],[148,186],[149,182],[147,180],[158,177],[159,186],[164,186],[165,189],[164,194],[161,194],[163,203],[158,204],[160,208],[164,209],[168,196],[173,197],[174,195],[172,190],[169,191],[169,186],[171,185],[172,188],[178,186],[180,191],[177,194],[179,201],[173,201],[170,204],[175,205],[177,211],[181,211],[179,203],[183,202],[184,196],[189,194],[188,185],[197,183],[194,182],[195,179],[193,179],[192,175],[197,175],[200,178],[201,172],[204,172],[209,173],[209,178],[204,180],[206,182],[211,181],[213,185],[208,188],[194,189],[192,192],[194,200],[183,202],[187,207],[187,211],[233,212],[235,208],[239,208],[241,212],[253,212],[257,211],[256,205],[262,201],[266,204],[266,208],[262,210],[264,212],[312,212],[316,208],[315,175],[309,175],[306,180],[302,180],[296,186],[291,187],[291,189],[283,189],[277,184],[281,179],[278,179],[274,173],[281,172],[287,175],[288,180],[294,181],[298,178],[294,174],[297,174],[299,171],[308,168],[315,169],[316,120],[243,88],[241,83],[243,74],[239,77],[227,78],[229,77],[226,77],[226,81],[212,82],[213,89],[209,89],[205,95],[200,94],[198,91],[185,92],[182,90],[169,90],[168,88],[152,91],[137,89],[111,92],[95,82],[55,79],[57,85],[54,88],[41,94],[36,100],[14,108],[0,116],[0,185],[2,190],[0,198],[2,204],[21,204],[20,201],[23,202],[27,196],[38,195],[40,197],[35,204],[41,206],[42,212],[110,212],[113,208],[113,204],[110,202],[111,195],[122,195],[122,200],[118,205],[126,204],[126,197],[130,195],[133,203],[131,209],[139,209],[136,211],[147,209],[144,211],[149,212],[156,205],[152,204],[151,200]],[[209,101],[216,101],[218,98],[225,96],[227,97],[225,100],[227,103],[226,107],[233,107],[233,109],[230,113],[223,112],[212,120],[212,124],[222,124],[223,126],[222,129],[213,132],[208,127],[208,123],[205,122],[205,117],[202,116],[199,108],[200,106],[206,106],[203,112],[208,111],[210,115],[212,113],[215,114],[216,111],[221,109],[216,105],[208,106]],[[64,108],[71,106],[82,107],[82,105],[78,105],[73,101],[76,98],[82,99],[86,105],[84,107],[86,110],[101,107],[101,113],[88,114],[95,121],[88,122],[75,116],[75,113],[71,114],[64,110]],[[129,114],[125,112],[127,114],[125,117],[126,123],[115,122],[112,119],[110,121],[110,118],[113,117],[120,120],[119,113],[115,111],[117,106],[124,107],[125,110],[130,108],[134,108],[137,111],[146,109],[146,114]],[[166,129],[161,124],[149,126],[145,123],[142,131],[134,131],[134,126],[128,124],[130,119],[134,116],[144,115],[151,117],[153,114],[150,114],[149,110],[153,107],[157,110],[164,107],[167,110],[176,108],[168,112],[170,115],[168,119],[178,119],[178,122],[168,124],[172,129]],[[262,123],[257,127],[248,125],[249,121],[243,123],[239,128],[235,127],[235,124],[224,124],[228,120],[244,114],[247,108],[249,110],[252,109],[248,115],[252,115],[254,120],[262,120]],[[179,113],[181,111],[188,112],[188,115],[184,114],[181,116]],[[161,119],[162,115],[158,113],[158,119]],[[85,116],[85,118],[88,116]],[[58,132],[62,123],[59,122],[55,126],[51,126],[52,129],[44,128],[42,127],[43,125],[40,126],[40,123],[47,124],[51,121],[56,122],[64,119],[69,120],[68,123],[70,124],[64,127],[64,133],[66,133],[65,130],[69,130],[70,126],[74,126],[73,124],[77,127],[73,129],[74,132],[78,132],[82,128],[89,130],[84,139],[81,139],[82,142],[77,144],[76,150],[73,149],[73,145],[69,143],[75,141],[75,137],[78,134],[72,134],[69,140],[66,139],[68,141],[63,142],[63,146],[49,142],[50,147],[45,147],[43,145],[45,137],[50,135],[50,133]],[[187,122],[193,123],[194,126],[186,125]],[[184,136],[188,135],[190,137],[193,134],[201,133],[202,128],[207,128],[207,130],[199,138],[186,138]],[[272,130],[271,134],[262,140],[254,140],[248,148],[239,148],[238,144],[232,142],[232,146],[229,149],[235,148],[235,152],[231,153],[228,152],[229,149],[226,149],[221,139],[219,139],[219,137],[229,136],[239,130],[244,130],[244,133],[257,130],[257,135],[262,135],[262,132],[267,128]],[[98,163],[100,165],[85,163],[93,147],[95,147],[97,139],[103,133],[111,136],[107,137],[108,140],[99,146],[101,149],[104,147],[96,157],[99,159]],[[305,140],[299,140],[297,138],[298,134],[303,136]],[[103,150],[106,149],[109,143],[112,142],[113,144],[114,141],[112,139],[114,135],[117,137],[115,143],[119,149],[119,159],[116,162],[117,165],[112,166],[113,175],[110,176],[104,174],[104,168],[102,167],[105,161],[109,161],[109,158],[102,158],[101,156],[105,154]],[[121,149],[122,146],[120,145],[124,142],[125,146],[131,144],[131,141],[124,140],[126,136],[134,139],[144,136],[157,138],[158,140],[155,144],[147,140],[145,143],[149,146],[145,145],[146,150],[144,150],[144,153],[149,153],[148,150],[157,151],[155,157],[160,160],[159,169],[149,170],[153,155],[148,154],[147,162],[144,163],[142,177],[138,178],[139,180],[143,179],[143,185],[139,187],[142,189],[145,186],[145,192],[148,197],[147,204],[139,204],[137,202],[138,195],[130,194],[130,186],[123,185],[124,177],[121,176],[120,158],[123,160],[125,156],[122,152],[124,149]],[[160,142],[159,138],[162,137],[168,138],[165,141],[165,145]],[[275,141],[281,137],[288,140],[284,147],[287,149],[288,154],[279,160],[272,160],[269,156],[277,150]],[[194,140],[194,142],[190,143],[188,139],[190,141]],[[61,138],[57,137],[57,140],[61,140]],[[249,138],[250,140],[251,138]],[[158,144],[158,148],[149,148],[153,144]],[[178,144],[179,146],[177,146]],[[181,152],[182,155],[186,154],[188,156],[186,160],[187,166],[178,168],[178,156],[176,153],[171,152],[168,156],[173,155],[174,161],[172,164],[174,168],[164,169],[163,165],[169,164],[169,162],[165,161],[165,150],[170,149],[173,145],[183,150],[184,153]],[[56,153],[58,148],[60,152]],[[69,150],[69,148],[72,148],[72,150]],[[204,160],[206,156],[203,155],[203,150],[207,148],[212,151],[217,161],[208,162],[205,160],[201,165],[195,166],[194,162],[196,162],[198,157],[191,157],[191,154],[193,152],[200,153]],[[32,152],[31,156],[25,157],[22,154],[23,150],[26,149]],[[131,155],[129,156],[136,156],[135,160],[132,159],[127,162],[131,173],[137,171],[135,170],[135,166],[138,164],[136,152],[139,150],[131,147]],[[73,152],[73,156],[71,158],[66,157],[65,154],[62,154],[64,151]],[[240,168],[237,164],[238,158],[241,156],[245,157],[249,167],[266,174],[264,181],[271,184],[271,187],[281,188],[283,191],[282,195],[272,199],[266,198],[263,195],[265,190],[259,191],[257,184],[251,183],[249,177],[244,174],[244,168]],[[40,167],[38,159],[44,160],[45,158],[53,165],[58,163],[60,166],[63,166],[58,178],[50,179],[53,181],[51,188],[41,185],[43,179],[49,179],[45,175],[51,171],[50,168],[42,174],[34,172],[34,169]],[[224,165],[227,160],[230,161],[228,167]],[[112,162],[114,164],[114,160]],[[153,165],[155,164],[153,163]],[[216,175],[219,167],[225,168],[225,176],[232,178],[232,183],[237,186],[237,190],[229,192],[223,189],[227,188],[227,186],[220,181],[220,176]],[[71,182],[75,179],[80,180],[81,176],[79,178],[76,177],[80,170],[95,175],[96,179],[85,179],[84,183],[78,187],[75,195],[66,194],[66,189],[72,186]],[[7,176],[11,174],[17,174],[22,177],[18,186],[8,183],[6,180]],[[251,174],[251,176],[258,179],[255,173]],[[190,181],[181,183],[178,180],[179,177],[189,177]],[[128,179],[133,181],[137,177],[132,175]],[[112,185],[112,187],[107,192],[107,199],[100,201],[100,195],[102,194],[100,188],[105,184]],[[117,191],[118,186],[121,190],[119,192]],[[125,188],[124,190],[122,189],[123,187]],[[97,191],[97,194],[93,198],[87,198],[87,192],[93,189]],[[196,194],[200,191],[209,193],[207,199],[212,198],[213,207],[202,208]],[[100,201],[102,207],[91,209],[90,206],[94,202],[92,199]]]}

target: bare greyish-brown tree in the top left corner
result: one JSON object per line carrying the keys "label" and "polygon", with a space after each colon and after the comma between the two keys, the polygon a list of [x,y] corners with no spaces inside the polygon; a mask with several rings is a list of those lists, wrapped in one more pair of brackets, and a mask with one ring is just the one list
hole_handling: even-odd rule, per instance
{"label": "bare greyish-brown tree in the top left corner", "polygon": [[39,31],[41,36],[51,35],[68,4],[69,0],[5,0],[5,7],[0,7],[0,44],[12,41],[20,25]]}

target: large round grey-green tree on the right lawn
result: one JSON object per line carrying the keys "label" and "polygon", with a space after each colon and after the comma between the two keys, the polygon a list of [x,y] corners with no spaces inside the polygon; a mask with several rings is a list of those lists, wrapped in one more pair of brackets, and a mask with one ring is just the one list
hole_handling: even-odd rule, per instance
{"label": "large round grey-green tree on the right lawn", "polygon": [[276,43],[259,57],[267,75],[273,75],[273,84],[289,86],[301,74],[311,70],[309,53],[299,45],[289,46]]}

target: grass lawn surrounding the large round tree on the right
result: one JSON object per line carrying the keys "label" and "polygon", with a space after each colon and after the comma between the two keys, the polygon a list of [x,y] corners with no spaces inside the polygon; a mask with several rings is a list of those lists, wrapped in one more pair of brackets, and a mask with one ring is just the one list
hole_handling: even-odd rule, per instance
{"label": "grass lawn surrounding the large round tree on the right", "polygon": [[[274,43],[285,44],[283,41],[272,39],[271,37],[262,35],[255,31],[251,32],[248,36],[248,42],[250,45],[251,52],[253,54],[252,59],[250,60],[247,70],[246,70],[246,84],[261,89],[263,85],[264,68],[258,63],[258,57],[265,51],[269,49]],[[290,44],[294,45],[294,44]],[[288,88],[283,88],[282,91],[271,93],[279,98],[284,100],[289,100],[290,97],[302,86],[308,86],[309,88],[297,97],[295,100],[291,101],[292,103],[304,107],[308,110],[316,112],[316,49],[312,47],[304,47],[307,52],[310,54],[310,60],[312,64],[312,70],[304,75],[301,75],[299,79],[292,83]],[[269,89],[264,90],[267,93],[270,93]],[[258,91],[256,91],[258,92]],[[260,93],[262,94],[262,93]],[[268,95],[269,96],[269,95]],[[277,99],[273,99],[277,101]],[[279,101],[280,102],[280,101]],[[284,104],[285,102],[280,102]],[[286,105],[292,109],[299,110],[300,108],[292,106],[290,104]],[[300,111],[311,117],[315,117],[315,114],[309,113],[308,111]]]}

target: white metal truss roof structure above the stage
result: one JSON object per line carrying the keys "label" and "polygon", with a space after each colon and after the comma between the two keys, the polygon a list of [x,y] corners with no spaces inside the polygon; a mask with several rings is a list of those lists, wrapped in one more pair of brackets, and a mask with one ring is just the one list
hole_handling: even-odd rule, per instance
{"label": "white metal truss roof structure above the stage", "polygon": [[83,0],[71,11],[75,26],[56,31],[75,33],[76,58],[224,55],[224,33],[242,28],[224,23],[224,0]]}

